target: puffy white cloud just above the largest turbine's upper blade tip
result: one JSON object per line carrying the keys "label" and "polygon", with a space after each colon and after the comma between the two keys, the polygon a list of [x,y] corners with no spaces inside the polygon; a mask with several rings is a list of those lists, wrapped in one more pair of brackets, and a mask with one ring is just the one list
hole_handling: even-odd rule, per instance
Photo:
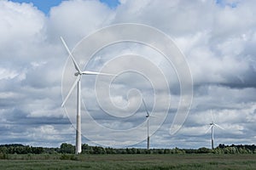
{"label": "puffy white cloud just above the largest turbine's upper blade tip", "polygon": [[50,10],[48,38],[59,42],[62,36],[75,45],[92,31],[107,26],[112,15],[113,11],[98,1],[64,1]]}

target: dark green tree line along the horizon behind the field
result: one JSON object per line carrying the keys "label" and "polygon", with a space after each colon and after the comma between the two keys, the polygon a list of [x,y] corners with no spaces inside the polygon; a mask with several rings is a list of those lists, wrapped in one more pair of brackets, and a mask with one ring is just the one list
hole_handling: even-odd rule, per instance
{"label": "dark green tree line along the horizon behind the field", "polygon": [[[1,154],[74,154],[75,146],[73,144],[63,143],[58,148],[33,147],[23,144],[1,144]],[[256,146],[254,144],[218,144],[215,149],[205,147],[199,149],[140,149],[140,148],[111,148],[102,146],[90,146],[82,144],[81,154],[255,154]]]}

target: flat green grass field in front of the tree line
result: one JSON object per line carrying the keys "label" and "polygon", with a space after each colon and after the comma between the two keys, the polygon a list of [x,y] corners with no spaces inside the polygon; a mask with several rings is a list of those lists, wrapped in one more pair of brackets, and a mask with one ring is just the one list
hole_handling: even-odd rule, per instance
{"label": "flat green grass field in front of the tree line", "polygon": [[256,155],[10,155],[0,169],[256,169]]}

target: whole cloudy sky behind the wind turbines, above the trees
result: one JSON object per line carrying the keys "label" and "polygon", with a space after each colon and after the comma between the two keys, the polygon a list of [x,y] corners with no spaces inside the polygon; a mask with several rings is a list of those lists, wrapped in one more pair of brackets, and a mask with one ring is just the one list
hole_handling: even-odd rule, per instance
{"label": "whole cloudy sky behind the wind turbines, above the trees", "polygon": [[[83,77],[83,143],[146,147],[144,99],[155,116],[149,119],[151,147],[210,148],[212,119],[224,128],[214,128],[215,146],[255,144],[255,13],[253,0],[0,1],[0,144],[75,144],[75,92],[65,108],[61,103],[76,77],[60,37],[82,69],[118,73]],[[156,48],[135,41],[85,57],[101,42],[136,31],[111,27],[123,23],[154,28],[134,37],[154,47],[171,48],[157,32],[175,42],[184,67],[177,68],[174,52],[174,63],[168,63]],[[102,36],[102,28],[111,34]],[[94,35],[98,42],[89,41]],[[185,71],[191,77],[183,77]],[[187,85],[190,78],[189,114],[170,133],[183,96],[190,95],[181,82]]]}

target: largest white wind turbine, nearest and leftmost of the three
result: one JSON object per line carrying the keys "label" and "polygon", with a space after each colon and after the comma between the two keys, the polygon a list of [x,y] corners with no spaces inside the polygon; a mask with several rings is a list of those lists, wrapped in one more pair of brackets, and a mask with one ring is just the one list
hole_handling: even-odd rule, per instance
{"label": "largest white wind turbine, nearest and leftmost of the three", "polygon": [[78,63],[73,57],[73,54],[70,52],[69,48],[67,47],[67,43],[64,41],[64,39],[61,37],[61,42],[67,49],[67,52],[71,59],[73,60],[73,65],[77,72],[74,74],[77,78],[73,82],[73,86],[70,88],[66,98],[63,100],[63,103],[61,107],[65,105],[67,102],[67,99],[69,98],[70,94],[72,94],[73,89],[77,85],[78,91],[77,91],[77,128],[76,128],[76,150],[75,153],[79,154],[82,151],[82,142],[81,142],[81,77],[82,75],[108,75],[108,76],[113,76],[112,74],[107,74],[107,73],[100,73],[100,72],[95,72],[95,71],[81,71]]}

